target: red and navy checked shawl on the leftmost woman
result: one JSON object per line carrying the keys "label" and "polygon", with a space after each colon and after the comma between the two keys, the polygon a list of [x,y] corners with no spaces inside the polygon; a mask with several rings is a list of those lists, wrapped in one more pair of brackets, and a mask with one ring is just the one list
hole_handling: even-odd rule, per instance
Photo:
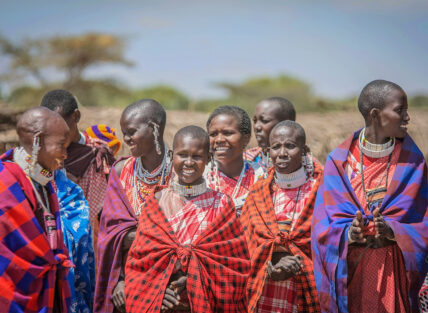
{"label": "red and navy checked shawl on the leftmost woman", "polygon": [[13,162],[13,150],[0,157],[0,306],[1,312],[69,312],[70,287],[66,280],[73,266],[64,245],[58,198],[46,187],[57,223],[57,247],[49,246],[46,232],[34,214],[36,195],[24,171]]}

